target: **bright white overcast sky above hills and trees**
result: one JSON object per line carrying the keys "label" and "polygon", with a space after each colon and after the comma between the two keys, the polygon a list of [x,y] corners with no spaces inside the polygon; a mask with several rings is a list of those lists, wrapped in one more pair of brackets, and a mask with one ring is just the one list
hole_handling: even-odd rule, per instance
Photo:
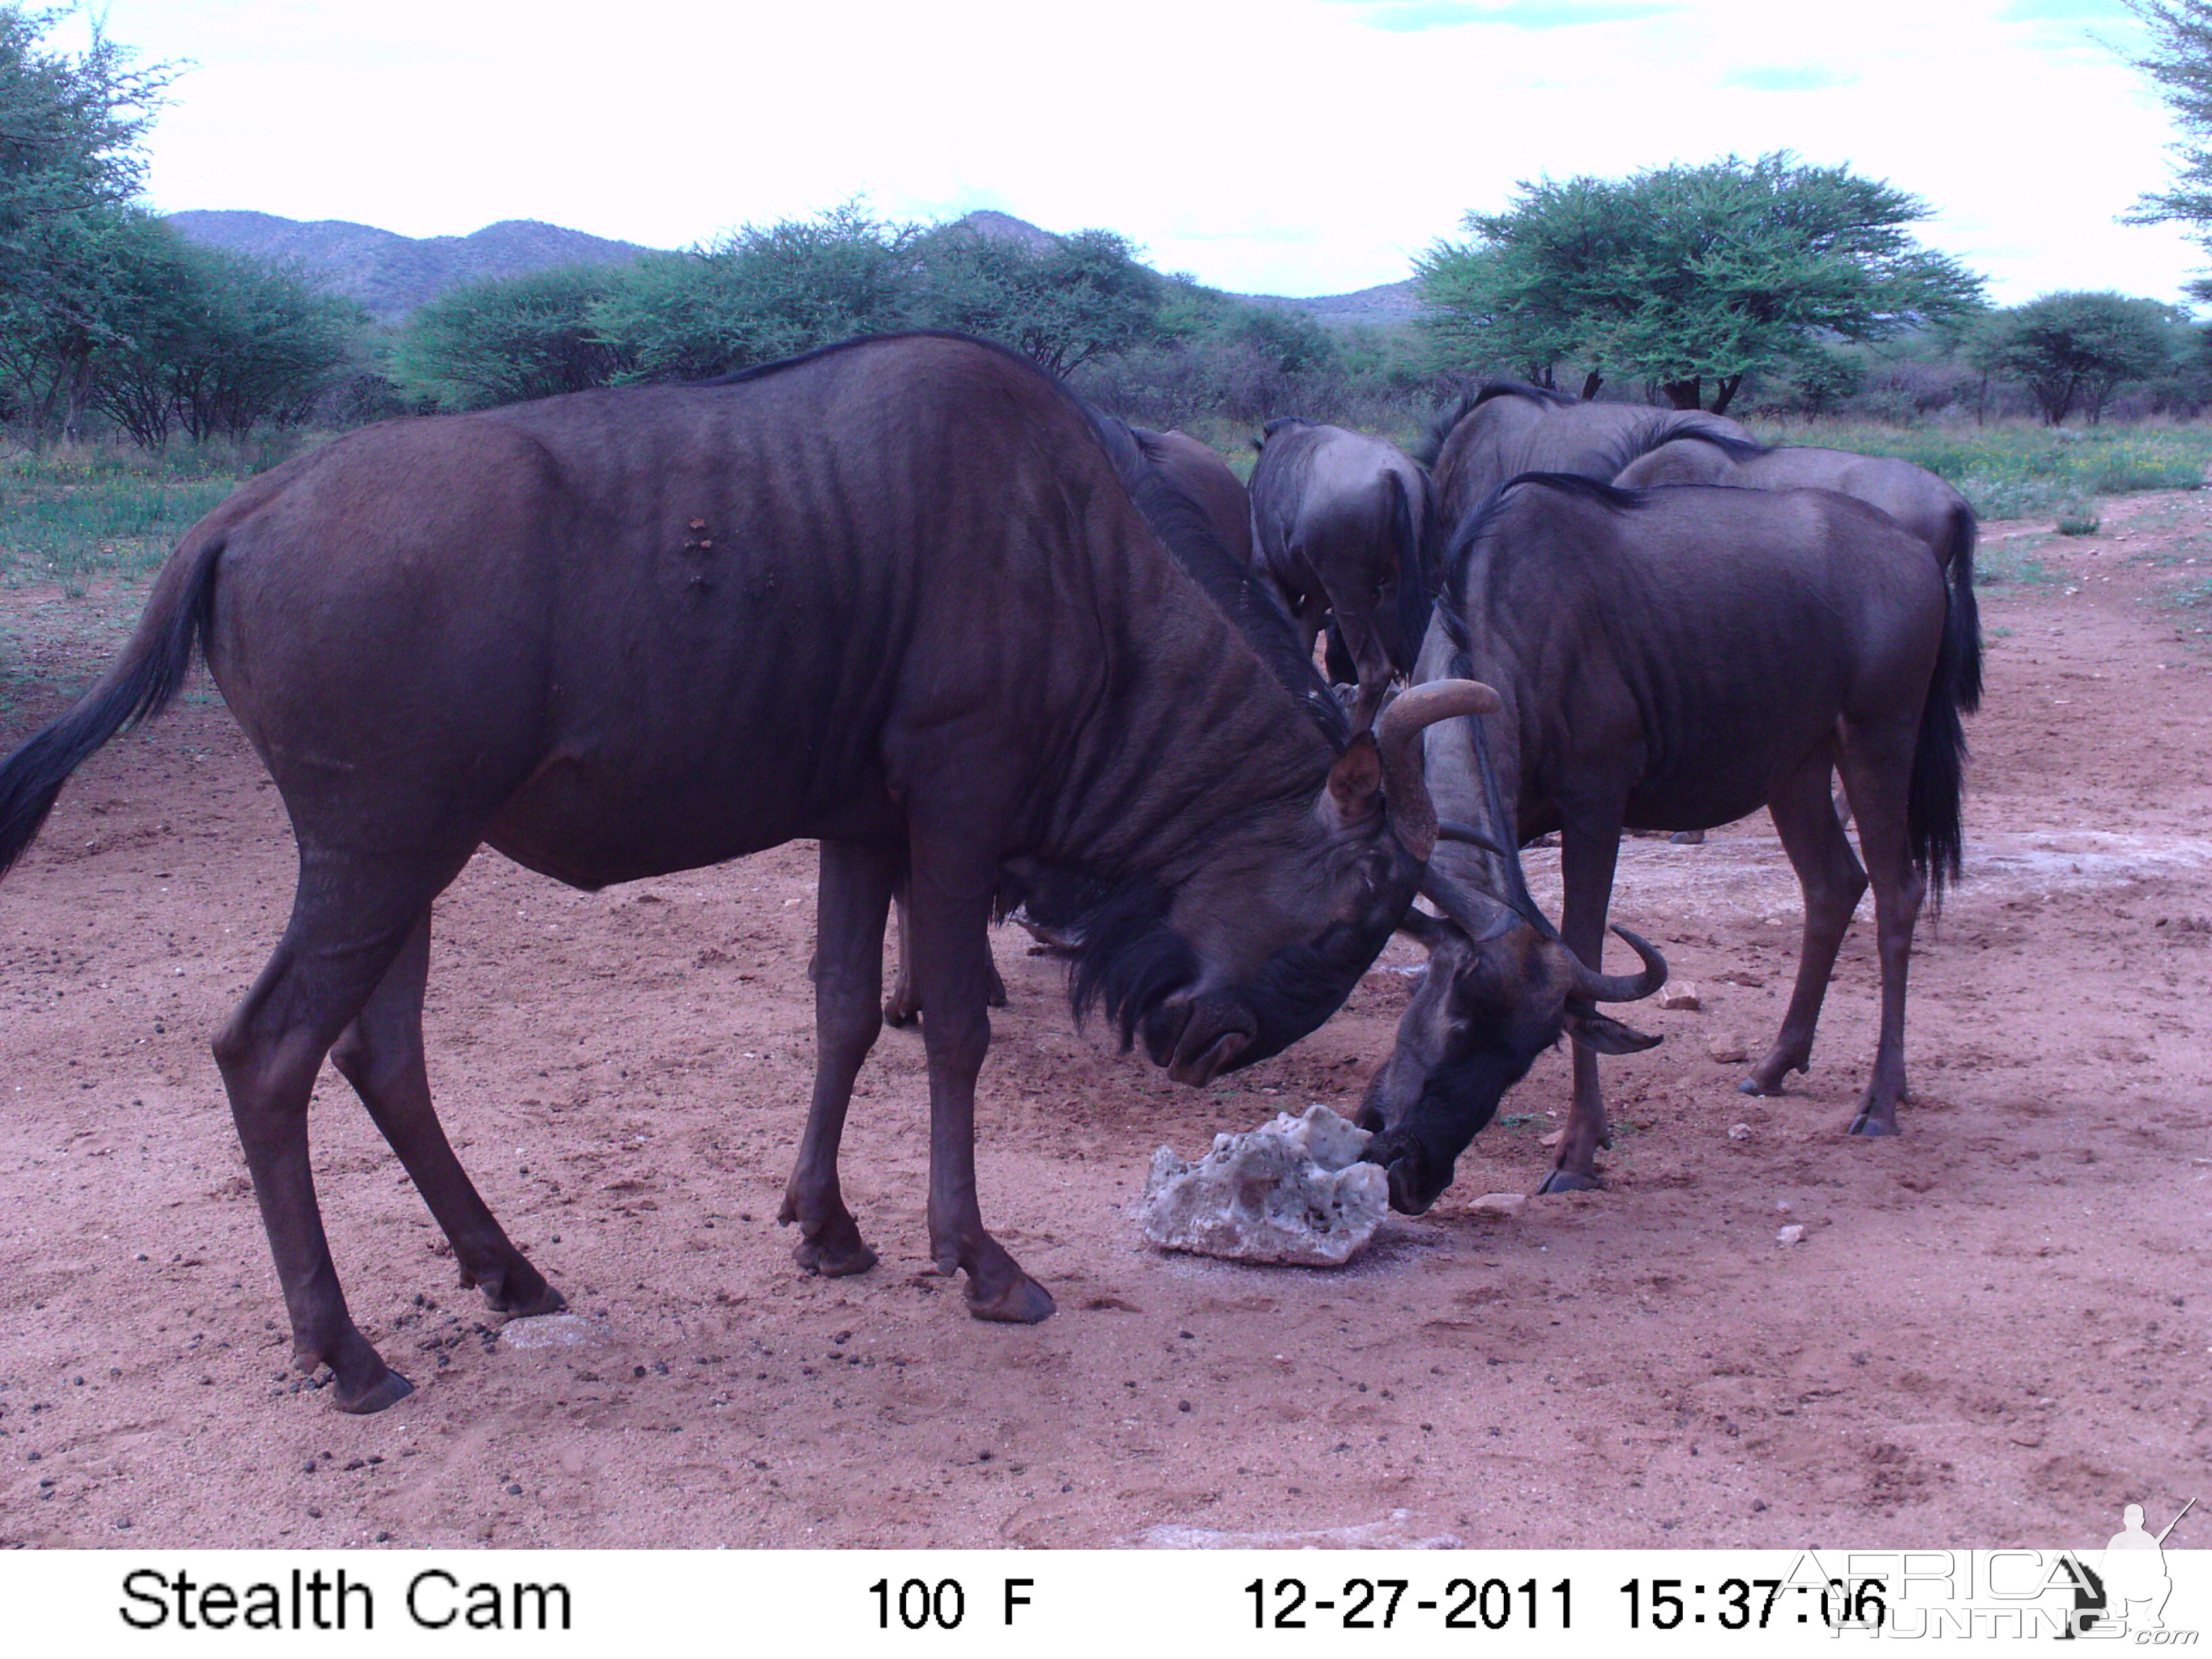
{"label": "bright white overcast sky above hills and trees", "polygon": [[2179,299],[2212,263],[2115,223],[2172,139],[2119,0],[108,0],[106,27],[190,60],[164,212],[679,248],[865,195],[1329,294],[1517,179],[1790,148],[1922,197],[2000,303]]}

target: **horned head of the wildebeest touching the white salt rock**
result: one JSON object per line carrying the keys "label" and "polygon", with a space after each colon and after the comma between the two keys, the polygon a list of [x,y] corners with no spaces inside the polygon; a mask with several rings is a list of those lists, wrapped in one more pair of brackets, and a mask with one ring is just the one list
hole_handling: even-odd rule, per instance
{"label": "horned head of the wildebeest touching the white salt rock", "polygon": [[1498,1102],[1562,1035],[1606,1055],[1657,1044],[1597,1004],[1666,984],[1666,960],[1626,927],[1613,931],[1644,958],[1644,971],[1597,973],[1533,905],[1469,894],[1433,874],[1422,894],[1444,914],[1407,911],[1402,929],[1429,949],[1429,973],[1358,1119],[1376,1130],[1363,1157],[1389,1172],[1391,1208],[1405,1214],[1436,1203]]}

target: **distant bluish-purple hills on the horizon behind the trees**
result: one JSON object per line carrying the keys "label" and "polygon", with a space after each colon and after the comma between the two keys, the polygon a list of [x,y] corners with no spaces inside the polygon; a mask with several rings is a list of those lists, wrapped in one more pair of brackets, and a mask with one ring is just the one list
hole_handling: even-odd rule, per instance
{"label": "distant bluish-purple hills on the horizon behind the trees", "polygon": [[[542,219],[500,219],[467,237],[403,237],[349,219],[281,219],[274,212],[195,210],[173,212],[168,221],[188,239],[208,248],[254,254],[259,259],[294,259],[334,294],[358,299],[372,316],[387,323],[425,305],[449,288],[526,276],[560,265],[615,265],[639,254],[659,252],[635,241],[611,241],[582,230],[549,226]],[[1024,248],[1053,241],[1051,230],[991,208],[960,219],[982,237],[1002,237]],[[1420,316],[1420,299],[1411,279],[1360,288],[1352,294],[1237,294],[1254,305],[1290,305],[1310,312],[1321,323],[1407,323]]]}

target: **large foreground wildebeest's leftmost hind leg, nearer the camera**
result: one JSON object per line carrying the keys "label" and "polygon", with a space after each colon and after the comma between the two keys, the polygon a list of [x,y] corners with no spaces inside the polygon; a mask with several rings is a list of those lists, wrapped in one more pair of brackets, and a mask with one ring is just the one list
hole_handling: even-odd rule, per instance
{"label": "large foreground wildebeest's leftmost hind leg, nearer the camera", "polygon": [[332,1369],[341,1411],[380,1411],[411,1385],[383,1363],[345,1310],[314,1201],[307,1099],[323,1055],[467,858],[469,847],[447,858],[369,860],[303,845],[285,936],[215,1037],[215,1062],[292,1316],[292,1358],[303,1369]]}

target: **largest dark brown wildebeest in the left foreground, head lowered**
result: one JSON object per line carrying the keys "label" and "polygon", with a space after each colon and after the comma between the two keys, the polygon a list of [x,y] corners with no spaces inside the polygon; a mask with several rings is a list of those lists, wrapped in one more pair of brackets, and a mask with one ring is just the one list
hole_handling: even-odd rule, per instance
{"label": "largest dark brown wildebeest in the left foreground, head lowered", "polygon": [[814,1102],[783,1214],[827,1274],[874,1261],[836,1146],[905,876],[929,1245],[982,1318],[1053,1307],[975,1203],[1009,865],[1088,872],[1075,1002],[1183,1082],[1343,1002],[1429,852],[1418,712],[1347,745],[1287,630],[1239,628],[1267,617],[1239,608],[1243,573],[1203,538],[1161,549],[1130,495],[1159,480],[1108,438],[960,336],[369,427],[192,526],[124,655],[0,768],[4,869],[195,646],[268,763],[301,880],[215,1053],[296,1358],[332,1367],[341,1407],[407,1383],[347,1316],[316,1212],[325,1053],[465,1281],[507,1312],[560,1305],[456,1161],[422,1066],[431,900],[480,843],[595,889],[821,838]]}

